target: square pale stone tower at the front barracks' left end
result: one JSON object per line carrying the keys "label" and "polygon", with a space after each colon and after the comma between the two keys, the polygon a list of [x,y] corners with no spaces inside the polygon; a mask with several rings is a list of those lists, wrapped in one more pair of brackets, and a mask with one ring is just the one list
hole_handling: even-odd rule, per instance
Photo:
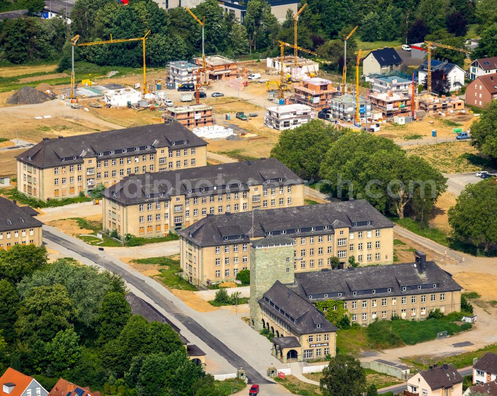
{"label": "square pale stone tower at the front barracks' left end", "polygon": [[250,325],[262,329],[258,301],[279,280],[294,282],[293,238],[265,237],[251,241],[250,246]]}

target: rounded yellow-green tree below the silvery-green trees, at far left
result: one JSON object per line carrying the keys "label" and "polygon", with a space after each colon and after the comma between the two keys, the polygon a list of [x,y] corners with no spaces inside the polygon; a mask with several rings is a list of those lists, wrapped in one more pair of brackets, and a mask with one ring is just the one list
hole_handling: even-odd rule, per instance
{"label": "rounded yellow-green tree below the silvery-green trees, at far left", "polygon": [[46,342],[60,330],[71,328],[75,316],[76,310],[64,286],[35,287],[21,302],[14,327],[21,340]]}

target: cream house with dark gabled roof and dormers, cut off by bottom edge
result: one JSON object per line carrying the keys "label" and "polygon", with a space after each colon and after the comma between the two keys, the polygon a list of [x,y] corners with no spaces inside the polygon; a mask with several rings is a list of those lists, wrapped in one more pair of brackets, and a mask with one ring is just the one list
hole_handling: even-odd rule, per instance
{"label": "cream house with dark gabled roof and dormers, cut off by bottom edge", "polygon": [[420,371],[407,382],[405,396],[462,396],[463,378],[452,364]]}

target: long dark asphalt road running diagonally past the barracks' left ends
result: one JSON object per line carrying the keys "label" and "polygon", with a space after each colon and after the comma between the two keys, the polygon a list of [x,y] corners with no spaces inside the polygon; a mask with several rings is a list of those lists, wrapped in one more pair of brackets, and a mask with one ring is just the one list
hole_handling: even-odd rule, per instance
{"label": "long dark asphalt road running diagonally past the barracks' left ends", "polygon": [[[144,280],[135,277],[126,269],[121,268],[112,260],[105,258],[103,253],[99,254],[93,251],[92,247],[82,247],[67,239],[58,237],[47,230],[43,230],[43,238],[59,244],[68,250],[74,251],[77,254],[95,262],[99,266],[121,275],[124,280],[140,290],[147,297],[152,299],[154,303],[163,308],[169,315],[175,317],[180,321],[189,331],[194,333],[198,338],[204,341],[209,347],[216,351],[219,355],[224,357],[233,367],[243,367],[246,370],[249,384],[274,384],[267,377],[260,375],[253,367],[251,367],[243,358],[234,353],[223,342],[205,330],[196,320],[192,317],[185,315],[173,302],[166,299],[156,289],[148,285]],[[243,340],[241,340],[243,342]]]}

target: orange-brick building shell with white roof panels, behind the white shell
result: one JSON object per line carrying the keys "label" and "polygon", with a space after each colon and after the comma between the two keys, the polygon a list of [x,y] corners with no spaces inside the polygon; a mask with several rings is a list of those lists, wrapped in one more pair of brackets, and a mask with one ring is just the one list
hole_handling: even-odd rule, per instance
{"label": "orange-brick building shell with white roof panels, behind the white shell", "polygon": [[317,111],[330,107],[331,98],[339,94],[339,91],[331,86],[330,80],[319,77],[304,79],[293,88],[295,92],[290,98],[292,103],[305,104]]}

